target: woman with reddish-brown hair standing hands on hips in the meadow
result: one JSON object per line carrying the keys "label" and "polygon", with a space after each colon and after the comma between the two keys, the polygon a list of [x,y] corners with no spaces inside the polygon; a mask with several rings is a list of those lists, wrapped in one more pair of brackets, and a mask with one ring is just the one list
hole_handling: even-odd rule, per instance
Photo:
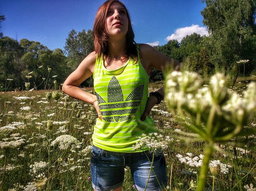
{"label": "woman with reddish-brown hair standing hands on hips in the meadow", "polygon": [[[92,186],[96,191],[121,190],[124,168],[129,166],[137,190],[164,190],[167,173],[163,153],[155,153],[153,171],[149,148],[134,151],[133,145],[141,134],[154,132],[155,124],[148,114],[164,95],[161,88],[148,97],[150,69],[163,70],[166,65],[179,69],[180,63],[149,45],[135,44],[128,10],[118,0],[108,0],[98,9],[93,34],[95,51],[62,87],[71,97],[93,104],[97,111],[92,136]],[[78,87],[91,75],[96,95]]]}

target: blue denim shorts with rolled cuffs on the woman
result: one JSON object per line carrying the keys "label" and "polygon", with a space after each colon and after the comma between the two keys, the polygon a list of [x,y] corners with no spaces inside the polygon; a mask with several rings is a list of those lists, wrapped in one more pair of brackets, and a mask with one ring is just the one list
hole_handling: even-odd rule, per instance
{"label": "blue denim shorts with rolled cuffs on the woman", "polygon": [[93,146],[91,151],[92,186],[96,191],[110,191],[122,186],[124,168],[128,166],[138,191],[144,191],[146,185],[146,191],[165,190],[167,172],[162,151],[155,152],[151,168],[152,159],[153,154],[148,151],[112,152]]}

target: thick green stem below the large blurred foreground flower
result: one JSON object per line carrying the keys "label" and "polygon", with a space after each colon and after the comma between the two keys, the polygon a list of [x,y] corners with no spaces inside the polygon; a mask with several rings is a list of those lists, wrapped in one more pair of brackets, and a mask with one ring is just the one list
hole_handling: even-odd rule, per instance
{"label": "thick green stem below the large blurred foreground flower", "polygon": [[203,165],[200,170],[196,191],[204,191],[205,182],[206,182],[207,173],[208,173],[208,165],[211,159],[212,152],[213,152],[213,143],[208,143],[207,145],[205,145]]}

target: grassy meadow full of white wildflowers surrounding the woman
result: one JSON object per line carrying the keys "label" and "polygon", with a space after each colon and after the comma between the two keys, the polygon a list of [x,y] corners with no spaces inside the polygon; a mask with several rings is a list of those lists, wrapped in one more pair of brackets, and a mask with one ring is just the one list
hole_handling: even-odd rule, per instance
{"label": "grassy meadow full of white wildflowers surrounding the woman", "polygon": [[[254,79],[239,78],[233,89],[240,92]],[[150,83],[149,92],[162,86],[163,82]],[[93,190],[90,150],[95,109],[61,91],[57,100],[47,92],[54,90],[0,92],[1,190]],[[150,116],[157,128],[167,132],[164,139],[172,137],[163,151],[167,190],[195,190],[204,141],[186,141],[175,133],[188,131],[172,120],[165,101],[155,105]],[[245,128],[255,126],[253,119]],[[206,190],[255,190],[255,140],[252,134],[216,144],[221,149],[213,153]],[[127,167],[123,190],[135,190],[133,184]]]}

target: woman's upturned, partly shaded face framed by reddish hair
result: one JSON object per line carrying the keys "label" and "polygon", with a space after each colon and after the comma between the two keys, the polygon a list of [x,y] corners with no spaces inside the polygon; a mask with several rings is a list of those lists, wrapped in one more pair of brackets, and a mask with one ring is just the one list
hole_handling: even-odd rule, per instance
{"label": "woman's upturned, partly shaded face framed by reddish hair", "polygon": [[124,7],[118,3],[112,3],[107,12],[106,26],[109,37],[125,36],[128,31],[128,17]]}

